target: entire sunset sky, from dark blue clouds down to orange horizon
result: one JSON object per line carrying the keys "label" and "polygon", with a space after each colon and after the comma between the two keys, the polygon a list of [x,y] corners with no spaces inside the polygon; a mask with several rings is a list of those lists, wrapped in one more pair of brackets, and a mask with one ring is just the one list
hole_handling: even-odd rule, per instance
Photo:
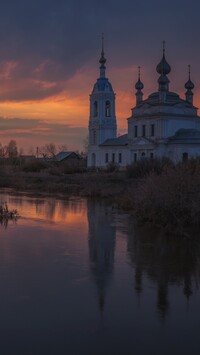
{"label": "entire sunset sky, from dark blue clouds down to orange horizon", "polygon": [[83,149],[102,32],[119,133],[135,104],[138,65],[144,97],[157,90],[163,40],[170,90],[184,96],[191,64],[200,107],[199,14],[197,0],[1,2],[0,143],[15,139],[25,153],[48,142]]}

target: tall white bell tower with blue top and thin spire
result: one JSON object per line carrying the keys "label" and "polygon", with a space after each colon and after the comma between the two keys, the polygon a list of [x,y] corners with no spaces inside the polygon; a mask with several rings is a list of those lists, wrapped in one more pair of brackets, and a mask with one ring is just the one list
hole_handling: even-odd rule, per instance
{"label": "tall white bell tower with blue top and thin spire", "polygon": [[103,36],[99,63],[100,76],[90,95],[88,167],[98,167],[103,164],[99,145],[108,138],[116,138],[117,132],[115,93],[106,78]]}

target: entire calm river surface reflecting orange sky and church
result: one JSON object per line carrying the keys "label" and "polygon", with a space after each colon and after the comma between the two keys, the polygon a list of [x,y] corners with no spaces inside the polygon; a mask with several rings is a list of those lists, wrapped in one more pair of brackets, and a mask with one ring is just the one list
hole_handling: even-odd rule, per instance
{"label": "entire calm river surface reflecting orange sky and church", "polygon": [[0,200],[21,216],[0,227],[3,355],[199,354],[197,244],[99,202]]}

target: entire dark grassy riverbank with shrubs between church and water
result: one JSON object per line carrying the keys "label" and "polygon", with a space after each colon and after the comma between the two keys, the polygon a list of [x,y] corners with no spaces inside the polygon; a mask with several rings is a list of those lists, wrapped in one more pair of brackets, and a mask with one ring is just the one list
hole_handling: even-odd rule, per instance
{"label": "entire dark grassy riverbank with shrubs between church and water", "polygon": [[129,211],[140,225],[184,237],[191,237],[191,230],[200,230],[199,159],[178,164],[166,159],[143,161],[126,171],[73,174],[56,168],[25,172],[1,167],[0,187],[107,199],[113,208]]}

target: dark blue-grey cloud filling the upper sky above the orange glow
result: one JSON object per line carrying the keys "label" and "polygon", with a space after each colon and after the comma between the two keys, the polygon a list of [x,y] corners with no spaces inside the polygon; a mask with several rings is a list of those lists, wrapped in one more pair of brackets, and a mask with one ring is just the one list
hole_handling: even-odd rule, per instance
{"label": "dark blue-grey cloud filling the upper sky above the orange glow", "polygon": [[[140,63],[153,70],[167,41],[174,67],[199,70],[200,3],[174,0],[7,0],[0,7],[1,100],[45,98],[68,88],[77,70],[98,65],[101,32],[109,65]],[[92,80],[92,79],[91,79]],[[46,85],[44,85],[46,83]],[[48,85],[49,83],[49,85]],[[54,84],[53,84],[54,83]]]}

